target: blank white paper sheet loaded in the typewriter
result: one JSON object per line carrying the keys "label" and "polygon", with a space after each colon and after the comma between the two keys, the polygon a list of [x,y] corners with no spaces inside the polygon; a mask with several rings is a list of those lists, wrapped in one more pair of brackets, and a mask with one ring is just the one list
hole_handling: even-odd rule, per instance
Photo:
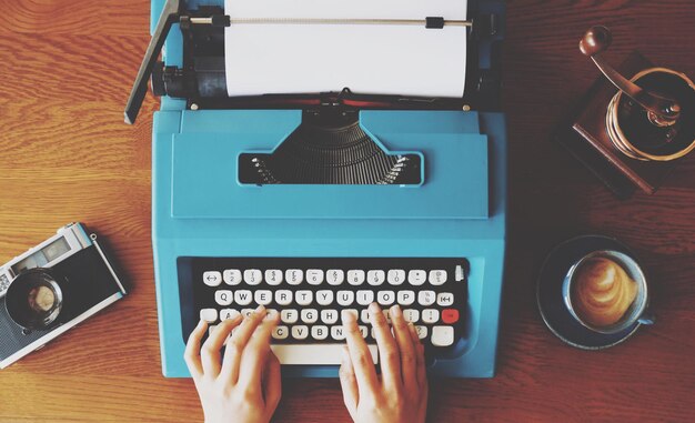
{"label": "blank white paper sheet loaded in the typewriter", "polygon": [[[465,20],[467,0],[225,0],[242,18]],[[232,24],[229,95],[355,93],[462,97],[466,28],[392,24]]]}

